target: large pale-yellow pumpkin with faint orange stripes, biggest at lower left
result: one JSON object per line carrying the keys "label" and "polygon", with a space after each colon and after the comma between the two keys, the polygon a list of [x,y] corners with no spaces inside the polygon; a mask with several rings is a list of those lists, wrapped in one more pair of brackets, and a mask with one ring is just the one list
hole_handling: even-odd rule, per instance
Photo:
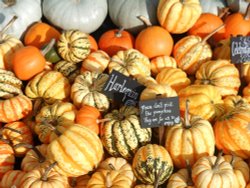
{"label": "large pale-yellow pumpkin with faint orange stripes, biggest at lower left", "polygon": [[94,170],[102,160],[103,153],[99,137],[78,124],[61,130],[61,136],[53,140],[47,149],[49,161],[57,162],[55,170],[67,177],[85,175]]}

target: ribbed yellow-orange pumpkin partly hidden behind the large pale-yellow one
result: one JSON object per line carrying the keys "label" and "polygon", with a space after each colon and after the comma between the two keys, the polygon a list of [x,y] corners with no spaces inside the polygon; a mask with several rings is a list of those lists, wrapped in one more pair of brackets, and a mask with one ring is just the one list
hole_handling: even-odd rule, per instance
{"label": "ribbed yellow-orange pumpkin partly hidden behind the large pale-yellow one", "polygon": [[48,144],[57,137],[54,129],[57,129],[64,122],[74,122],[76,109],[70,102],[56,102],[41,108],[36,115],[34,131],[39,140]]}

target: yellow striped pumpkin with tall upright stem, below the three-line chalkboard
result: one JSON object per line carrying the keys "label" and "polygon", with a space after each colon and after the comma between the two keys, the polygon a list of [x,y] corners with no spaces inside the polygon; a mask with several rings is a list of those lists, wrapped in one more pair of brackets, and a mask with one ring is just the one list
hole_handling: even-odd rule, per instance
{"label": "yellow striped pumpkin with tall upright stem, below the three-line chalkboard", "polygon": [[[186,160],[192,166],[203,156],[212,156],[215,151],[215,137],[209,121],[196,115],[189,115],[186,101],[185,118],[180,124],[166,127],[165,148],[174,166],[185,168]],[[196,140],[199,140],[196,142]]]}

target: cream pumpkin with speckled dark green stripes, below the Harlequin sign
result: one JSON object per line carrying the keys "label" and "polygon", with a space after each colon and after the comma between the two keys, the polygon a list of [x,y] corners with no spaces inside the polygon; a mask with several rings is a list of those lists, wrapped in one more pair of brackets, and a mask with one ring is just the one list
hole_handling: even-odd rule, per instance
{"label": "cream pumpkin with speckled dark green stripes, below the Harlequin sign", "polygon": [[135,152],[151,141],[151,129],[141,128],[139,110],[133,106],[122,106],[104,116],[101,126],[103,146],[111,156],[131,159]]}

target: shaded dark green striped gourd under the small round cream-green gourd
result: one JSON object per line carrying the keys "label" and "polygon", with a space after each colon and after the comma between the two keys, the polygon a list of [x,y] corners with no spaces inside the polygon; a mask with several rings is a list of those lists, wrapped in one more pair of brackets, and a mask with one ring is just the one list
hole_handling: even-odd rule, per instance
{"label": "shaded dark green striped gourd under the small round cream-green gourd", "polygon": [[80,74],[80,65],[77,63],[61,60],[54,66],[54,70],[60,72],[68,78],[69,82],[74,82],[75,78]]}

